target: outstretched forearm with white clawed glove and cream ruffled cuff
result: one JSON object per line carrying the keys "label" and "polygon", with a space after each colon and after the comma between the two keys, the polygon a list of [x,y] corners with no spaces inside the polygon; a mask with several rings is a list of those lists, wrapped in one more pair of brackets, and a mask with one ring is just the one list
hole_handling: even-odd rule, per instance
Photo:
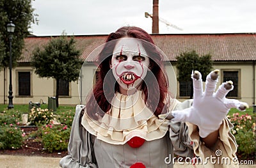
{"label": "outstretched forearm with white clawed glove and cream ruffled cuff", "polygon": [[[183,121],[188,125],[189,138],[193,142],[196,156],[202,158],[204,164],[209,157],[228,158],[230,164],[219,163],[218,167],[238,167],[236,158],[237,144],[234,135],[230,133],[232,124],[226,118],[230,108],[244,111],[248,108],[247,103],[228,99],[225,96],[234,86],[231,81],[224,82],[216,92],[218,82],[218,70],[207,75],[205,91],[202,86],[202,75],[200,72],[192,73],[194,84],[194,99],[191,107],[169,112],[166,119],[172,121]],[[219,152],[221,151],[221,155]],[[214,166],[215,165],[211,165]]]}

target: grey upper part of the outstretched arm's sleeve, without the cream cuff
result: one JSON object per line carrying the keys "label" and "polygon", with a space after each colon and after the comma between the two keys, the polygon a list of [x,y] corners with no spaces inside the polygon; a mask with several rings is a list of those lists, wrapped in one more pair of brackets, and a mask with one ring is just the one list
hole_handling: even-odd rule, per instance
{"label": "grey upper part of the outstretched arm's sleeve, without the cream cuff", "polygon": [[[191,103],[191,100],[178,103],[174,110],[186,109],[191,106]],[[170,120],[170,139],[176,155],[190,158],[194,156],[193,142],[189,138],[186,123]]]}

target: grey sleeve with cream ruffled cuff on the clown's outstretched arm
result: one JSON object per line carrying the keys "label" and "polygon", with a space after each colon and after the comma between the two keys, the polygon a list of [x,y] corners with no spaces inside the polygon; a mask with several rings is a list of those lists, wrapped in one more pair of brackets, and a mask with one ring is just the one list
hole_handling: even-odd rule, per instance
{"label": "grey sleeve with cream ruffled cuff on the clown's outstretched arm", "polygon": [[[189,108],[192,103],[193,100],[186,100],[177,104],[174,110]],[[173,143],[174,153],[183,157],[193,157],[193,153],[195,153],[198,160],[202,162],[201,164],[207,168],[238,167],[236,139],[230,132],[232,128],[232,123],[227,118],[223,119],[218,130],[219,139],[210,149],[200,139],[198,126],[171,120],[170,139]]]}

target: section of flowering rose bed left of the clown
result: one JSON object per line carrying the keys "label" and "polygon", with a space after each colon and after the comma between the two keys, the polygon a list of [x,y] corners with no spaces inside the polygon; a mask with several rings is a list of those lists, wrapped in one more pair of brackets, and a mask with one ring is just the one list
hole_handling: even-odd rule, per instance
{"label": "section of flowering rose bed left of the clown", "polygon": [[67,155],[74,110],[54,115],[47,109],[31,109],[28,123],[23,122],[22,116],[24,112],[14,109],[0,112],[0,155]]}

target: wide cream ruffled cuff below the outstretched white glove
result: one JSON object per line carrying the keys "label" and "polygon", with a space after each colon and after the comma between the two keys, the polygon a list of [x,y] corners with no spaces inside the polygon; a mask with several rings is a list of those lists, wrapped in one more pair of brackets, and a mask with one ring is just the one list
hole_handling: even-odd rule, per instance
{"label": "wide cream ruffled cuff below the outstretched white glove", "polygon": [[[237,144],[234,135],[230,130],[234,127],[230,121],[225,118],[219,128],[219,140],[212,149],[205,146],[199,136],[198,127],[191,123],[187,123],[189,129],[189,137],[194,142],[195,155],[202,159],[204,167],[239,167],[236,157]],[[212,159],[214,162],[210,162]]]}

